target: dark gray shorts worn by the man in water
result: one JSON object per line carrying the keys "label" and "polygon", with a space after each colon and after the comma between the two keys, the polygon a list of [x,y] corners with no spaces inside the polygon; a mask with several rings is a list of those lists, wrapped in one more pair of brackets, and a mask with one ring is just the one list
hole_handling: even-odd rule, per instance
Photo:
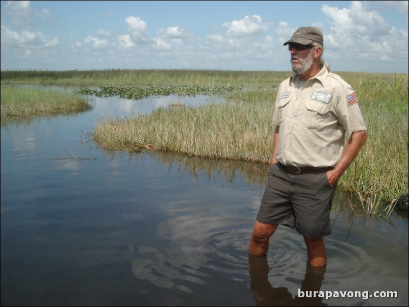
{"label": "dark gray shorts worn by the man in water", "polygon": [[335,190],[325,171],[291,175],[279,164],[272,164],[257,221],[286,225],[305,237],[328,236]]}

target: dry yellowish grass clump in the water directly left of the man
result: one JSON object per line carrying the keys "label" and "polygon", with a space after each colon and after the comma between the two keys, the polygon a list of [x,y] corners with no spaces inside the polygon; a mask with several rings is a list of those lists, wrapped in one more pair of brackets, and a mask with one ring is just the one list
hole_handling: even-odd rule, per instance
{"label": "dry yellowish grass clump in the water directly left of the man", "polygon": [[228,97],[227,103],[160,108],[150,115],[101,119],[94,129],[94,139],[110,149],[151,144],[149,147],[157,150],[190,156],[269,160],[274,106],[271,92],[238,92]]}

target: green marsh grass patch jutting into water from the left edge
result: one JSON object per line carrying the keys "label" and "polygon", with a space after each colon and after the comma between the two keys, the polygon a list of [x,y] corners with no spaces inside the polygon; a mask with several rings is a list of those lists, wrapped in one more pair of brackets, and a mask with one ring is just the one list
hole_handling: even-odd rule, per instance
{"label": "green marsh grass patch jutting into water from the left edge", "polygon": [[69,114],[91,109],[87,100],[75,93],[1,87],[1,120],[25,119],[33,116]]}

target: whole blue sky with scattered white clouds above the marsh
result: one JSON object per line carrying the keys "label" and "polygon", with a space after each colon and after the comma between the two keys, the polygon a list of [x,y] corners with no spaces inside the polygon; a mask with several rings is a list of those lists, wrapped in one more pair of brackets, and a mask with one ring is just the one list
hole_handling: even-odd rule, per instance
{"label": "whole blue sky with scattered white clouds above the marsh", "polygon": [[324,35],[333,71],[408,72],[408,1],[1,1],[1,70],[291,71]]}

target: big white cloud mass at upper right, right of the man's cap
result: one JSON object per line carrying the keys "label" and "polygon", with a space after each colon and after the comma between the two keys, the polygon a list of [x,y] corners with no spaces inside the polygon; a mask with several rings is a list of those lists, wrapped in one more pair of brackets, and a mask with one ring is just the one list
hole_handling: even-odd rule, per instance
{"label": "big white cloud mass at upper right, right of the man's cap", "polygon": [[[343,9],[322,6],[322,12],[331,18],[332,24],[324,33],[327,52],[344,63],[348,59],[351,63],[359,62],[357,60],[379,63],[398,59],[407,63],[407,30],[392,28],[377,11],[368,9],[366,4],[352,1],[350,8]],[[338,53],[334,51],[335,48],[338,48]],[[339,67],[346,68],[342,65]]]}

